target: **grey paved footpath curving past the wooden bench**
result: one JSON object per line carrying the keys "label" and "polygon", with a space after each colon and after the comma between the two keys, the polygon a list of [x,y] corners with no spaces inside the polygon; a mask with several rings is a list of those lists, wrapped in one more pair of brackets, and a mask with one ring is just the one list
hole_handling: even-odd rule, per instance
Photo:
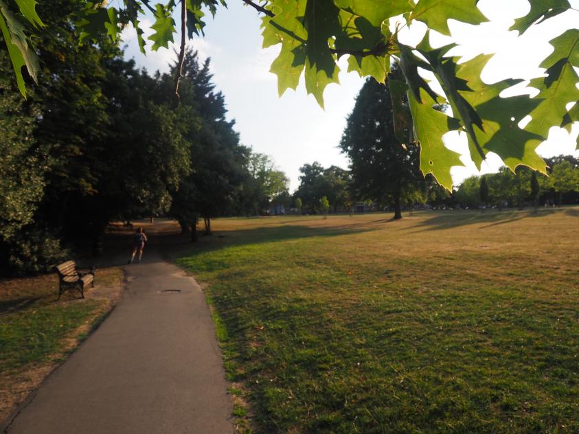
{"label": "grey paved footpath curving past the wooden bench", "polygon": [[111,315],[5,433],[233,433],[201,288],[177,266],[146,254],[143,263],[126,266],[128,291]]}

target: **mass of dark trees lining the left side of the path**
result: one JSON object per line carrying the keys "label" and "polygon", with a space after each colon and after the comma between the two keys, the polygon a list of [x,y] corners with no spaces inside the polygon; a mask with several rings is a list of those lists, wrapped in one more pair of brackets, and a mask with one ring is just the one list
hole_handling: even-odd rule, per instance
{"label": "mass of dark trees lining the left side of the path", "polygon": [[212,218],[289,196],[269,157],[240,144],[209,60],[187,52],[177,99],[174,71],[137,69],[109,38],[78,45],[79,7],[37,6],[62,31],[37,41],[27,100],[0,51],[0,275],[43,271],[65,246],[98,249],[111,220],[171,216],[195,236],[198,218],[211,233]]}

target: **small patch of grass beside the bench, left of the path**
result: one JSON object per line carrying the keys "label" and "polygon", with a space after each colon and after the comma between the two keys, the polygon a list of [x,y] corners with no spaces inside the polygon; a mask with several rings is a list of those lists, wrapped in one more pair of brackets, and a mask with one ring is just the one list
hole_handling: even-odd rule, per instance
{"label": "small patch of grass beside the bench, left of the path", "polygon": [[59,301],[55,274],[0,282],[0,422],[109,312],[123,278],[100,269],[85,299],[67,291]]}

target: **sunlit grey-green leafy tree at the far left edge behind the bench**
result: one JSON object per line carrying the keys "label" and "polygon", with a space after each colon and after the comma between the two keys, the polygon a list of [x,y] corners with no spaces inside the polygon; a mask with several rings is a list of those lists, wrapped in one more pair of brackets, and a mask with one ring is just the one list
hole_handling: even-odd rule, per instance
{"label": "sunlit grey-green leafy tree at the far left edge behind the bench", "polygon": [[34,219],[49,170],[47,149],[34,139],[40,115],[38,104],[22,99],[0,52],[0,275],[42,271],[66,254]]}

